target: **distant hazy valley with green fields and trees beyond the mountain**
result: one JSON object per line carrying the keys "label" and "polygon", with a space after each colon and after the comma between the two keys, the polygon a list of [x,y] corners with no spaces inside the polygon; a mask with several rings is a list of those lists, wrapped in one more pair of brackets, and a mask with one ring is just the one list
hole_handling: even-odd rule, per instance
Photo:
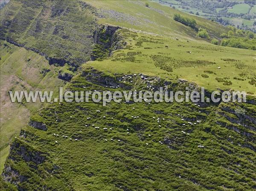
{"label": "distant hazy valley with green fields and trees beyond the mountain", "polygon": [[255,27],[253,27],[256,18],[256,5],[253,0],[159,0],[159,2],[171,7],[175,5],[179,11],[195,14],[224,26],[233,25],[238,29],[256,32]]}

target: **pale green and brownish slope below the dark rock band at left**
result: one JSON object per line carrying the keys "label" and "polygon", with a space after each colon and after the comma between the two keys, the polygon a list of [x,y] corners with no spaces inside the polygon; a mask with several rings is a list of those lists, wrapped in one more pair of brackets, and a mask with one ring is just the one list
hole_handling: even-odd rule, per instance
{"label": "pale green and brownish slope below the dark rock band at left", "polygon": [[[33,51],[1,41],[1,168],[5,162],[12,138],[28,123],[30,112],[35,112],[41,103],[11,103],[9,91],[52,90],[58,94],[60,67],[49,66],[48,61]],[[45,73],[43,72],[45,71]]]}

